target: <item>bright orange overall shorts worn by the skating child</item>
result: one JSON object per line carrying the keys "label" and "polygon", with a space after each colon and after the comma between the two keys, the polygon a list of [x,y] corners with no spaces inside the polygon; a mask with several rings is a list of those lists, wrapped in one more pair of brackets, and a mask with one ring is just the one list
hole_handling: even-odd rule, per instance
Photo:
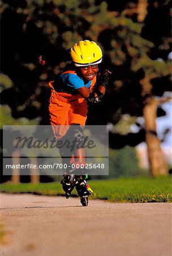
{"label": "bright orange overall shorts worn by the skating child", "polygon": [[87,119],[87,101],[83,97],[72,99],[62,97],[62,93],[51,93],[49,113],[50,122],[56,138],[63,137],[71,123],[85,125]]}

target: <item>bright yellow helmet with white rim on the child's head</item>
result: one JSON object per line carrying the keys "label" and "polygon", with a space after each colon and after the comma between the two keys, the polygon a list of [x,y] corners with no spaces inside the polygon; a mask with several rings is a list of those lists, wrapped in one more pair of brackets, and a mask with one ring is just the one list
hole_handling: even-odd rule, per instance
{"label": "bright yellow helmet with white rim on the child's head", "polygon": [[84,67],[101,63],[102,50],[95,42],[84,40],[74,44],[70,51],[76,67]]}

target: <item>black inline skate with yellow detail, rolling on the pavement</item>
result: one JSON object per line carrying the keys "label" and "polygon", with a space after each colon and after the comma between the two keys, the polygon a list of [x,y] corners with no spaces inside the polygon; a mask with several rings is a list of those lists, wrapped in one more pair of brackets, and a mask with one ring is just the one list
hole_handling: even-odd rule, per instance
{"label": "black inline skate with yellow detail, rolling on the pavement", "polygon": [[85,175],[78,176],[75,184],[78,195],[80,196],[80,202],[84,207],[88,206],[88,196],[93,194],[91,187],[89,187]]}

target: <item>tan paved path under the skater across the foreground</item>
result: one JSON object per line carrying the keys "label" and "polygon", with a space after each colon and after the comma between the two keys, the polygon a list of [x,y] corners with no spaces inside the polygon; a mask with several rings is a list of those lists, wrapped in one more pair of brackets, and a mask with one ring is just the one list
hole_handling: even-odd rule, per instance
{"label": "tan paved path under the skater across the foreground", "polygon": [[171,205],[1,194],[1,256],[171,256]]}

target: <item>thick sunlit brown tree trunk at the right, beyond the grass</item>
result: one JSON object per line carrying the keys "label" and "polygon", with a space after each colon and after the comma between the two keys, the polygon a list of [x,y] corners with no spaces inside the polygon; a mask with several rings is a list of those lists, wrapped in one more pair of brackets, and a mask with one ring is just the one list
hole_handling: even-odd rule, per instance
{"label": "thick sunlit brown tree trunk at the right, beyond the grass", "polygon": [[153,96],[148,96],[143,108],[145,120],[145,139],[147,143],[150,172],[153,177],[167,175],[168,169],[161,150],[161,143],[156,132],[158,102]]}

